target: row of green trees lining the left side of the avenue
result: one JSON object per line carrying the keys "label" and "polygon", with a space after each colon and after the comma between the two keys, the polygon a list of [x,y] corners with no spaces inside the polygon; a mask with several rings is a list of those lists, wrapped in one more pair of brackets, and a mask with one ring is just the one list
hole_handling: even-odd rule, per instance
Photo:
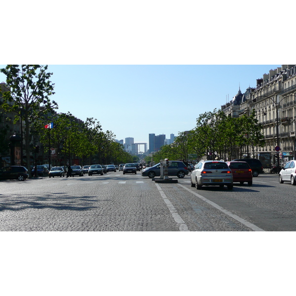
{"label": "row of green trees lining the left side of the avenue", "polygon": [[[25,122],[26,159],[31,159],[33,147],[41,143],[45,147],[58,148],[58,153],[70,160],[78,156],[89,161],[102,163],[131,162],[132,156],[123,146],[116,143],[111,131],[103,132],[96,119],[87,118],[79,123],[71,113],[56,113],[58,104],[50,100],[54,94],[54,83],[49,79],[52,73],[47,66],[7,65],[0,69],[6,75],[9,91],[1,93],[1,110],[14,114],[14,123]],[[44,124],[53,121],[53,129],[44,129]],[[50,146],[50,147],[49,147]],[[48,151],[48,149],[45,148]],[[31,176],[30,165],[27,164]]]}

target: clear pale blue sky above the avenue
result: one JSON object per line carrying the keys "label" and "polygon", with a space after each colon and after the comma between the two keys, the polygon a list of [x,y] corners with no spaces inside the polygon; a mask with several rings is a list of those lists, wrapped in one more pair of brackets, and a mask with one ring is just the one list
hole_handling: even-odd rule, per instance
{"label": "clear pale blue sky above the avenue", "polygon": [[[0,66],[1,68],[5,65]],[[96,118],[117,140],[178,135],[281,65],[49,65],[58,112]],[[5,76],[0,74],[0,80]]]}

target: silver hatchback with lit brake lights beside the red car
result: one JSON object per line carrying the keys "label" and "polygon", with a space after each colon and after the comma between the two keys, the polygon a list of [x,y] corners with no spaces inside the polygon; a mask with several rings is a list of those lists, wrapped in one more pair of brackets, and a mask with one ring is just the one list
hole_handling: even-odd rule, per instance
{"label": "silver hatchback with lit brake lights beside the red car", "polygon": [[194,166],[190,175],[191,187],[201,189],[202,186],[220,186],[224,185],[228,189],[233,188],[232,172],[228,165],[223,161],[206,160],[200,161]]}

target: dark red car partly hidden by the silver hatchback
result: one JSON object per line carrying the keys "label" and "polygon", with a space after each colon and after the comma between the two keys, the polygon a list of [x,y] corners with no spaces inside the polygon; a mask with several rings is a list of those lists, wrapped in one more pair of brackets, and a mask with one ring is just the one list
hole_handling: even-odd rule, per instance
{"label": "dark red car partly hidden by the silver hatchback", "polygon": [[233,183],[239,182],[240,184],[244,184],[244,182],[248,182],[250,186],[253,184],[252,169],[247,162],[226,161],[226,163],[232,172]]}

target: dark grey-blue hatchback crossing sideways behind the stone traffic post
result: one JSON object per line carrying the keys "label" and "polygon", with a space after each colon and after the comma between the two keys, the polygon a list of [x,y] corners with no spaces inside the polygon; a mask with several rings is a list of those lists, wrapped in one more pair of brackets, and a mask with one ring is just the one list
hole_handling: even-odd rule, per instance
{"label": "dark grey-blue hatchback crossing sideways behind the stone traffic post", "polygon": [[[169,161],[168,166],[168,176],[177,176],[178,178],[184,178],[188,175],[189,171],[187,166],[183,161]],[[155,164],[152,167],[148,167],[142,170],[142,176],[149,178],[154,178],[155,176],[160,176],[160,163]]]}

